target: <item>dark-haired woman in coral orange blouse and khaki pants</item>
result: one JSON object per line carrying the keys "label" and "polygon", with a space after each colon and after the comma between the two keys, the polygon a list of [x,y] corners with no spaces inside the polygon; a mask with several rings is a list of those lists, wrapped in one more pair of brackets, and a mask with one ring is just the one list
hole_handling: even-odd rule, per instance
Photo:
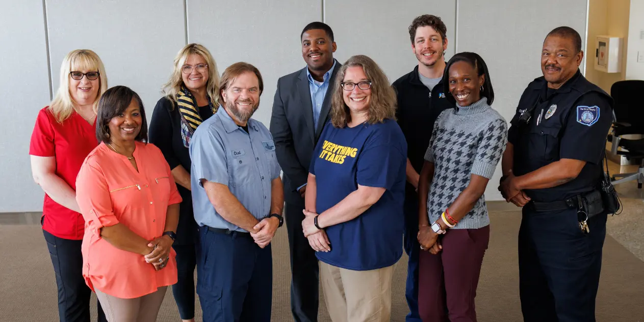
{"label": "dark-haired woman in coral orange blouse and khaki pants", "polygon": [[102,95],[96,138],[76,180],[86,222],[82,274],[109,322],[156,321],[177,279],[172,244],[182,199],[161,150],[146,143],[137,93],[116,86]]}

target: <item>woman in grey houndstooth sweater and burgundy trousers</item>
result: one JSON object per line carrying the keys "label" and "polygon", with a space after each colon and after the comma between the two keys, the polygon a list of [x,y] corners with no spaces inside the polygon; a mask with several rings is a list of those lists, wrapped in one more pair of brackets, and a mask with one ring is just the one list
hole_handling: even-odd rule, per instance
{"label": "woman in grey houndstooth sweater and burgundy trousers", "polygon": [[490,107],[488,67],[476,53],[454,55],[442,84],[456,108],[437,118],[419,180],[419,313],[423,321],[477,321],[489,242],[483,193],[505,150],[507,123]]}

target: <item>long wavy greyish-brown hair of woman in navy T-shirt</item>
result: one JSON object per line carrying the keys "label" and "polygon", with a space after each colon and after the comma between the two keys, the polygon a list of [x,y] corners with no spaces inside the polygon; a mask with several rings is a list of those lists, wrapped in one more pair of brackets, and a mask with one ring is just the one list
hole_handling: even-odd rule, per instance
{"label": "long wavy greyish-brown hair of woman in navy T-shirt", "polygon": [[346,60],[345,64],[337,71],[335,88],[331,96],[331,123],[333,126],[341,129],[351,121],[351,113],[349,107],[346,106],[341,83],[344,82],[346,69],[355,66],[362,67],[366,78],[372,82],[368,123],[382,123],[386,119],[395,120],[396,93],[389,85],[389,80],[384,75],[383,69],[372,58],[365,55],[355,55]]}

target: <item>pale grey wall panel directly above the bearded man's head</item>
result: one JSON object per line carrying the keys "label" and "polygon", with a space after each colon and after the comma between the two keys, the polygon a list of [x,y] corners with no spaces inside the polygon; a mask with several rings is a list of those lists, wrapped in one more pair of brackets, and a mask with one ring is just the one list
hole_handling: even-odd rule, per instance
{"label": "pale grey wall panel directly above the bearded man's head", "polygon": [[322,1],[187,1],[188,41],[206,46],[219,73],[235,62],[260,69],[264,91],[253,118],[269,127],[278,78],[306,66],[299,34],[322,20]]}

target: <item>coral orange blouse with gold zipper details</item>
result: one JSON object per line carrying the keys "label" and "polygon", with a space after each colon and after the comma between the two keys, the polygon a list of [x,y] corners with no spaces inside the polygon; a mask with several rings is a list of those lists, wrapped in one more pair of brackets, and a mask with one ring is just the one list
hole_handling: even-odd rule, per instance
{"label": "coral orange blouse with gold zipper details", "polygon": [[182,201],[170,167],[155,145],[137,142],[133,156],[138,172],[126,156],[100,143],[76,179],[76,201],[85,219],[82,274],[92,291],[96,288],[117,298],[138,298],[176,283],[174,249],[167,266],[155,271],[144,256],[117,249],[100,237],[101,228],[118,223],[146,240],[160,237],[167,206]]}

